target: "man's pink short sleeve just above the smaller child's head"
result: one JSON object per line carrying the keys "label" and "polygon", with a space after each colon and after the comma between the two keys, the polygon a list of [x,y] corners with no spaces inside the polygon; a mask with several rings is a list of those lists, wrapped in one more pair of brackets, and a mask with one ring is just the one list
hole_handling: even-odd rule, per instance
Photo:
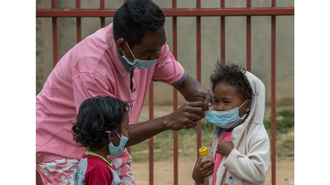
{"label": "man's pink short sleeve just above the smaller child's head", "polygon": [[92,73],[80,73],[80,76],[73,80],[73,93],[77,113],[80,104],[95,96],[114,96],[110,85]]}

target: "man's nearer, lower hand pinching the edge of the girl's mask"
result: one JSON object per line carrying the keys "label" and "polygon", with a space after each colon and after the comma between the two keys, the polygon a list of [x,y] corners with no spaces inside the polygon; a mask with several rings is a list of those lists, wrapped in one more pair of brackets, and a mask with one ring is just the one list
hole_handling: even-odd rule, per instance
{"label": "man's nearer, lower hand pinching the edge of the girl's mask", "polygon": [[166,116],[166,128],[170,130],[181,130],[185,127],[196,127],[196,122],[205,116],[204,110],[208,109],[209,107],[203,102],[185,103],[173,113]]}

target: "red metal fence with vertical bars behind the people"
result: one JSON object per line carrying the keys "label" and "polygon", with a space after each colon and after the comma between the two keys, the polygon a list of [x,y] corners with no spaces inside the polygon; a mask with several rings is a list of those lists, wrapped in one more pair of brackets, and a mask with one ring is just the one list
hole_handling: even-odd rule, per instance
{"label": "red metal fence with vertical bars behind the people", "polygon": [[[124,0],[126,2],[126,0]],[[172,0],[171,9],[162,9],[165,16],[173,18],[173,56],[177,52],[177,17],[196,17],[197,41],[197,81],[201,82],[201,16],[220,16],[220,59],[225,61],[225,17],[247,17],[247,70],[251,71],[251,16],[269,15],[271,26],[271,173],[272,185],[275,185],[275,17],[277,15],[294,15],[294,7],[276,7],[276,0],[271,0],[272,7],[251,8],[251,0],[247,0],[247,8],[225,8],[225,0],[220,0],[220,8],[201,8],[201,0],[196,0],[196,8],[177,8],[177,0]],[[52,17],[53,66],[57,59],[57,17],[76,17],[77,43],[81,41],[81,17],[100,17],[101,28],[105,27],[105,17],[113,17],[117,9],[105,9],[105,0],[100,0],[100,9],[80,9],[80,0],[76,0],[76,9],[56,9],[56,0],[51,0],[51,9],[37,9],[36,17]],[[178,107],[178,91],[173,88],[173,110]],[[149,119],[153,119],[153,82],[149,86]],[[178,131],[174,131],[174,185],[178,185]],[[201,148],[201,122],[197,124],[197,149]],[[198,151],[198,150],[197,150]],[[197,157],[199,154],[197,152]],[[40,175],[36,174],[37,184],[42,184]],[[153,138],[149,139],[149,185],[153,185]]]}

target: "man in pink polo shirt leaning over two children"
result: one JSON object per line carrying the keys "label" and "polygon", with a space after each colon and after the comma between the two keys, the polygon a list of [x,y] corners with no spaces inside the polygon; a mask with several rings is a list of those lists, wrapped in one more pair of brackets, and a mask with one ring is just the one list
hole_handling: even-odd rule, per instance
{"label": "man in pink polo shirt leaning over two children", "polygon": [[[153,2],[129,0],[115,13],[113,23],[86,37],[59,60],[36,97],[36,168],[45,184],[74,184],[73,173],[85,149],[76,146],[68,121],[76,119],[87,98],[118,96],[133,102],[125,147],[165,130],[195,127],[204,117],[213,97],[170,53],[164,22],[163,12]],[[151,80],[171,84],[191,103],[135,124]],[[126,149],[108,159],[123,184],[135,184]]]}

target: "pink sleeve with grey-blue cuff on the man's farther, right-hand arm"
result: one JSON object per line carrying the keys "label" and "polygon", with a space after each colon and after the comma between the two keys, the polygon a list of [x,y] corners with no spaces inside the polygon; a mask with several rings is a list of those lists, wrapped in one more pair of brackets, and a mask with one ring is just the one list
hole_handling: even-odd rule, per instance
{"label": "pink sleeve with grey-blue cuff on the man's farther, right-hand arm", "polygon": [[152,81],[161,81],[171,85],[179,85],[186,77],[187,73],[170,53],[170,49],[167,43],[165,43],[156,62]]}

